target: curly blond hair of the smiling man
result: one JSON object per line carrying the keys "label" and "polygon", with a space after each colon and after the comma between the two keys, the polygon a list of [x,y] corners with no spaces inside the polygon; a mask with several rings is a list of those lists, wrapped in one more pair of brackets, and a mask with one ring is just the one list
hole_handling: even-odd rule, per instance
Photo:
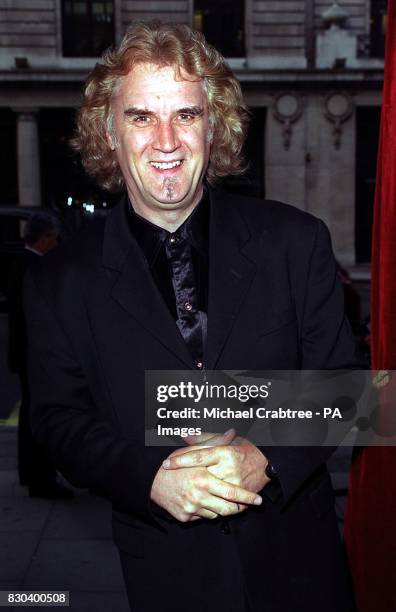
{"label": "curly blond hair of the smiling man", "polygon": [[108,49],[88,76],[72,141],[88,174],[109,191],[124,187],[116,153],[109,147],[106,133],[112,133],[112,98],[120,80],[138,63],[175,66],[179,75],[183,70],[203,81],[212,130],[206,178],[213,184],[221,177],[241,174],[241,149],[249,113],[237,79],[223,56],[200,32],[159,21],[133,24],[119,48]]}

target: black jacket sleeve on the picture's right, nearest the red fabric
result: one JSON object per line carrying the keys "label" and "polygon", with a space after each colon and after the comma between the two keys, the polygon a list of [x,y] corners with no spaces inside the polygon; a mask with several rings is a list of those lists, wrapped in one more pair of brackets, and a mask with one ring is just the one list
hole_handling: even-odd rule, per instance
{"label": "black jacket sleeve on the picture's right, nearest the red fabric", "polygon": [[[293,269],[302,370],[364,368],[344,313],[344,296],[336,272],[330,234],[322,221],[316,221],[308,274]],[[293,260],[293,258],[290,258]],[[299,258],[295,258],[299,261]],[[279,474],[283,501],[287,504],[311,476],[323,469],[334,446],[260,447]],[[264,489],[265,491],[265,489]]]}

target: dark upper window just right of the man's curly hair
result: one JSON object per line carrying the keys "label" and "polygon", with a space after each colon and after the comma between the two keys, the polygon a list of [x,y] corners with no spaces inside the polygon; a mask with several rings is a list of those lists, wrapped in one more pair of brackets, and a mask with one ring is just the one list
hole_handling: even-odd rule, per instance
{"label": "dark upper window just right of the man's curly hair", "polygon": [[195,0],[194,28],[225,57],[245,56],[243,0]]}

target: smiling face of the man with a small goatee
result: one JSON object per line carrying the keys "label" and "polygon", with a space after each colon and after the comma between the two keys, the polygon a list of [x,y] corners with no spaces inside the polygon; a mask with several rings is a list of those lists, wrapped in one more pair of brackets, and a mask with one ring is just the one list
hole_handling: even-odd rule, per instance
{"label": "smiling face of the man with a small goatee", "polygon": [[176,80],[173,67],[138,64],[113,101],[110,146],[133,206],[162,226],[182,223],[202,196],[210,125],[202,81]]}

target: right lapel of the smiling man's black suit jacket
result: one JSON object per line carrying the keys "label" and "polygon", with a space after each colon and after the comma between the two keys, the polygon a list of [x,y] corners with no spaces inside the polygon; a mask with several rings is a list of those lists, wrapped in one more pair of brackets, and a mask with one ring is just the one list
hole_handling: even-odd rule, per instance
{"label": "right lapel of the smiling man's black suit jacket", "polygon": [[[214,369],[252,284],[257,253],[244,219],[227,194],[210,191],[210,253],[207,369]],[[235,199],[232,197],[232,199]]]}

